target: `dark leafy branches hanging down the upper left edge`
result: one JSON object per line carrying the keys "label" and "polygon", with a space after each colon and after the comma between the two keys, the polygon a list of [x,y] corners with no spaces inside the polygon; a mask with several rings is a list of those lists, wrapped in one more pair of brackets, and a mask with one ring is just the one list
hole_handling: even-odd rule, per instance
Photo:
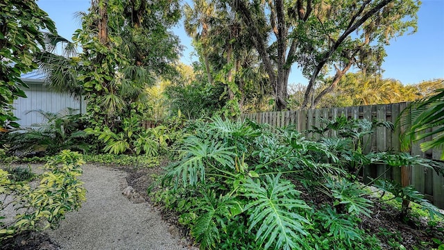
{"label": "dark leafy branches hanging down the upper left edge", "polygon": [[44,47],[41,30],[56,32],[56,26],[35,0],[7,0],[0,3],[0,128],[18,128],[12,103],[26,97],[22,74],[37,69],[33,56]]}

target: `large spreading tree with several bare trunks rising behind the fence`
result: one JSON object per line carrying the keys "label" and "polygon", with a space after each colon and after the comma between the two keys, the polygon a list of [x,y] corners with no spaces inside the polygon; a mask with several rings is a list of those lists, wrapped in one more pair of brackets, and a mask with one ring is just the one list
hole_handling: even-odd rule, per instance
{"label": "large spreading tree with several bare trunks rising behind the fence", "polygon": [[248,27],[273,87],[276,106],[287,107],[293,64],[309,79],[302,108],[309,106],[316,81],[332,76],[313,104],[331,92],[350,67],[378,69],[384,45],[416,31],[416,0],[234,0],[231,6]]}

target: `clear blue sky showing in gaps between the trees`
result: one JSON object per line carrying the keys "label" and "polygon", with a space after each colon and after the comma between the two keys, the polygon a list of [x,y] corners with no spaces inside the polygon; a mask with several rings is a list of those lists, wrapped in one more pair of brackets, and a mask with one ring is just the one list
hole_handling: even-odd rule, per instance
{"label": "clear blue sky showing in gaps between the trees", "polygon": [[[48,12],[56,22],[58,33],[71,38],[80,27],[75,17],[78,11],[89,8],[89,0],[39,0],[40,8]],[[186,49],[182,62],[190,64],[193,47],[182,25],[173,29]],[[422,0],[418,12],[418,32],[391,40],[386,47],[385,61],[382,65],[384,78],[395,78],[405,85],[419,83],[433,78],[444,78],[444,0]],[[289,83],[307,84],[296,67],[292,68]]]}

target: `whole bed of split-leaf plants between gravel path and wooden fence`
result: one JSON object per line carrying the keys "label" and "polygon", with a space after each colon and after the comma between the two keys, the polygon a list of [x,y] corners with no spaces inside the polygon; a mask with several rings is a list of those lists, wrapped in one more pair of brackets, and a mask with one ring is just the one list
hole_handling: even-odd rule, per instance
{"label": "whole bed of split-leaf plants between gravel path and wooden fence", "polygon": [[[363,153],[365,135],[389,125],[339,118],[311,131],[318,137],[308,140],[291,128],[248,120],[190,123],[153,199],[176,210],[200,249],[386,249],[393,238],[378,229],[370,233],[364,222],[376,208],[391,206],[384,202],[409,200],[434,218],[427,247],[438,248],[443,215],[422,194],[381,178],[360,182],[360,169],[375,163],[420,164],[443,174],[431,160]],[[329,126],[336,137],[323,136]],[[379,199],[368,186],[395,198]],[[398,220],[410,215],[393,213]]]}

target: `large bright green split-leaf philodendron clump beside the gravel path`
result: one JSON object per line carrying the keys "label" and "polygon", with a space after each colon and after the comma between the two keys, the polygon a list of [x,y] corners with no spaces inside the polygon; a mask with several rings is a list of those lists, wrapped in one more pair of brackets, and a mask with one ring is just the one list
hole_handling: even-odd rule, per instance
{"label": "large bright green split-leaf philodendron clump beside the gravel path", "polygon": [[[164,185],[171,183],[173,189],[156,195],[169,208],[182,213],[180,222],[190,226],[201,248],[214,249],[217,242],[223,242],[222,237],[226,240],[231,233],[255,242],[243,244],[244,249],[307,246],[302,239],[307,234],[305,226],[309,220],[302,214],[309,206],[298,199],[299,192],[289,181],[280,175],[266,174],[284,157],[270,153],[262,157],[261,164],[254,163],[257,158],[253,152],[265,148],[271,151],[276,146],[272,138],[262,134],[260,126],[214,117],[209,123],[190,124],[186,130],[194,135],[180,141],[180,160],[172,163],[163,177]],[[287,134],[282,135],[280,140],[292,142],[286,137]],[[298,146],[296,140],[300,138],[293,138],[293,145],[287,144],[286,150],[294,151],[297,156],[317,149],[316,142],[300,142]],[[311,160],[305,163],[300,168],[316,165]],[[284,170],[288,168],[282,167]],[[264,178],[253,181],[250,177],[257,178],[259,174]],[[227,226],[235,223],[245,231]],[[240,244],[237,245],[242,248]]]}

